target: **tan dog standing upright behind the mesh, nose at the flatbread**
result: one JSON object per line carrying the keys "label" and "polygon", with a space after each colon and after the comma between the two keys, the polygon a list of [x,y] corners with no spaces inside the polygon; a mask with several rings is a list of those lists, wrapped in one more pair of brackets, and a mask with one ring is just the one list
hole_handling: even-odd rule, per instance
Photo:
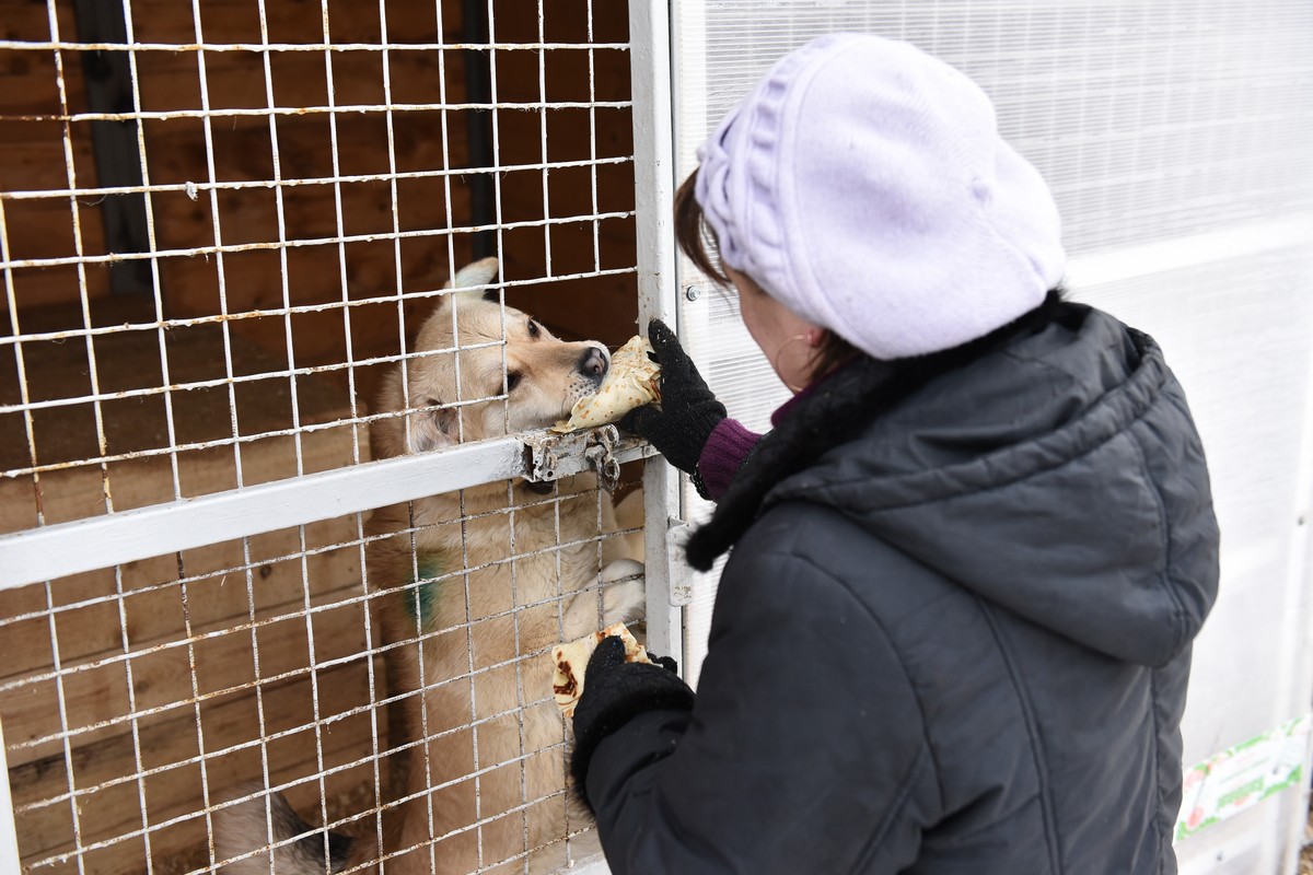
{"label": "tan dog standing upright behind the mesh, nose at the flatbread", "polygon": [[[484,286],[496,272],[484,258],[449,285]],[[374,422],[378,457],[544,428],[569,416],[609,366],[601,344],[561,341],[481,291],[445,296],[415,352],[383,383],[378,412],[398,416]],[[641,493],[632,499],[626,517],[641,513]],[[523,872],[527,857],[532,871],[565,863],[555,840],[587,823],[567,813],[559,792],[565,724],[545,653],[642,615],[641,539],[604,537],[617,530],[591,474],[558,480],[550,495],[500,481],[374,513],[368,584],[383,590],[390,695],[404,697],[389,754],[395,804],[382,815],[387,872]],[[276,842],[310,830],[284,800],[272,808]],[[217,819],[221,858],[267,844],[263,799]],[[328,845],[331,871],[379,857],[377,840],[348,849],[334,836]],[[311,832],[274,862],[278,872],[323,872],[324,859],[324,836]],[[256,854],[226,871],[268,867],[268,854]]]}

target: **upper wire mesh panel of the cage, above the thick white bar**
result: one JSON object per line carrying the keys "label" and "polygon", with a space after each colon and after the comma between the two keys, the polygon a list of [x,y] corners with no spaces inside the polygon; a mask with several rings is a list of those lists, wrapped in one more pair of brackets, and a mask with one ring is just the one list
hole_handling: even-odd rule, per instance
{"label": "upper wire mesh panel of the cage, above the thick white bar", "polygon": [[[474,254],[502,257],[519,300],[633,308],[622,18],[248,5],[125,3],[109,41],[88,24],[104,10],[51,0],[0,41],[24,71],[4,113],[21,160],[0,180],[0,464],[37,495],[7,530],[214,491],[193,468],[219,454],[217,488],[368,459],[353,426],[379,374]],[[290,471],[249,459],[280,442]],[[148,495],[112,488],[151,460]],[[102,506],[46,502],[63,472],[98,472]]]}

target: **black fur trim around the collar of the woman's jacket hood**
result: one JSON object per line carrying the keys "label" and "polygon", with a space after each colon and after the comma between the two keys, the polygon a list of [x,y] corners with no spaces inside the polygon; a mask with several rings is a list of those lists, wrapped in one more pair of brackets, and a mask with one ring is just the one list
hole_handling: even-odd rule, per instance
{"label": "black fur trim around the collar of the woman's jacket hood", "polygon": [[779,428],[763,436],[743,460],[712,518],[689,537],[688,564],[709,571],[752,525],[775,484],[802,471],[831,447],[856,439],[872,420],[932,379],[969,365],[1014,337],[1044,328],[1064,312],[1085,311],[1064,302],[1062,295],[1062,289],[1053,289],[1035,310],[960,346],[894,361],[863,356],[831,373],[798,399]]}

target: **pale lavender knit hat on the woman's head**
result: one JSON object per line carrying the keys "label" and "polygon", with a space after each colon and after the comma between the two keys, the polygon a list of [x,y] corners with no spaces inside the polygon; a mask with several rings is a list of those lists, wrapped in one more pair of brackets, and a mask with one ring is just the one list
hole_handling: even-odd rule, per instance
{"label": "pale lavender knit hat on the woman's head", "polygon": [[807,43],[697,155],[722,262],[876,358],[987,335],[1066,266],[1053,195],[989,97],[910,43]]}

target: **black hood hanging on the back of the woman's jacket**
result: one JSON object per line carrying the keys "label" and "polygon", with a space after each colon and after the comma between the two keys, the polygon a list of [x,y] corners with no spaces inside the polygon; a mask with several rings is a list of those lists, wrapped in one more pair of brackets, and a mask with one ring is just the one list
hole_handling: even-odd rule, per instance
{"label": "black hood hanging on the back of the woman's jacket", "polygon": [[1165,665],[1217,592],[1203,445],[1158,345],[1082,311],[928,383],[763,510],[834,508],[983,600]]}

